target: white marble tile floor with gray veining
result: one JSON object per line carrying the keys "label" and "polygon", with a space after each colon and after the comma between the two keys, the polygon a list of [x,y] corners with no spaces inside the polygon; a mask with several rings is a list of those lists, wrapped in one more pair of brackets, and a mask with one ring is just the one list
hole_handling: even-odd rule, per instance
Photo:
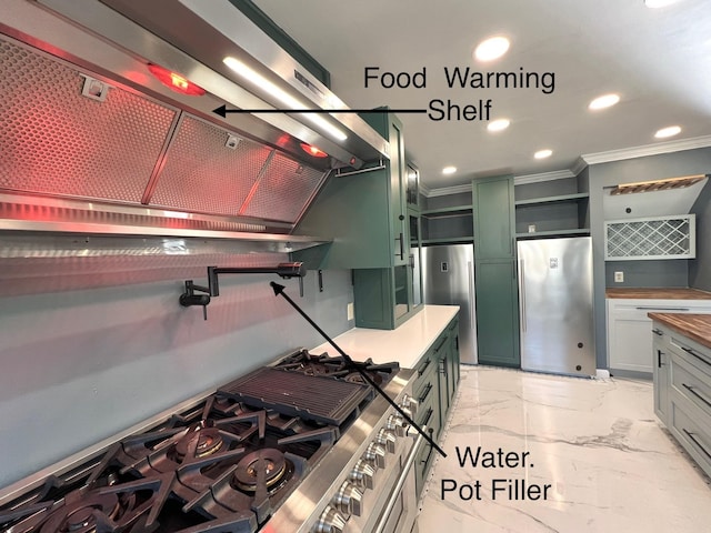
{"label": "white marble tile floor with gray veining", "polygon": [[651,382],[462,366],[442,447],[420,533],[711,531],[709,479]]}

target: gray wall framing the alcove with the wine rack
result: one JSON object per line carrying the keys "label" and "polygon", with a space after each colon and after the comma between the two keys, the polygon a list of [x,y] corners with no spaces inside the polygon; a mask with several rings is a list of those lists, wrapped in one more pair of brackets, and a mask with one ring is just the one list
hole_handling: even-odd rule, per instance
{"label": "gray wall framing the alcove with the wine rack", "polygon": [[[633,183],[637,181],[674,178],[678,175],[701,174],[711,171],[711,148],[685,150],[674,153],[649,155],[644,158],[592,164],[583,172],[588,172],[590,180],[590,232],[593,248],[594,278],[594,309],[595,309],[595,351],[598,368],[608,368],[607,333],[605,333],[605,261],[604,261],[604,214],[603,188],[618,183]],[[641,262],[640,262],[641,263]],[[711,265],[700,262],[699,271],[707,272]],[[627,272],[625,272],[625,275]],[[692,286],[698,285],[694,275]],[[708,275],[707,278],[708,279]]]}

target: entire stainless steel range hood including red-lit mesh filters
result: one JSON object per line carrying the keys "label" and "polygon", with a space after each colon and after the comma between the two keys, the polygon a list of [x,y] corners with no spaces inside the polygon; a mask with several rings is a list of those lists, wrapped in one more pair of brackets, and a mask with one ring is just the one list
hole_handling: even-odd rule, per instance
{"label": "entire stainless steel range hood including red-lit mesh filters", "polygon": [[[292,112],[348,108],[227,0],[1,9],[0,229],[286,235],[332,169],[387,158],[388,143],[354,113]],[[207,92],[173,92],[149,64]],[[221,117],[222,105],[264,112]]]}

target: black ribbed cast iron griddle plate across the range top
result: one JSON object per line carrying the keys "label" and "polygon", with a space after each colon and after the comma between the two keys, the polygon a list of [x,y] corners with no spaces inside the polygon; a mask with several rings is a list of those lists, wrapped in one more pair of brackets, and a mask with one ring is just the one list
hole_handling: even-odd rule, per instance
{"label": "black ribbed cast iron griddle plate across the range top", "polygon": [[261,368],[218,390],[218,394],[290,416],[340,426],[373,389],[362,383]]}

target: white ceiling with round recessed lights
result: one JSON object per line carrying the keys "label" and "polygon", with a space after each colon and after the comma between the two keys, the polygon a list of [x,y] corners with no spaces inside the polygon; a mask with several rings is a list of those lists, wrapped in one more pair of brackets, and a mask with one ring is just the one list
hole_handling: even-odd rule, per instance
{"label": "white ceiling with round recessed lights", "polygon": [[[490,133],[487,122],[401,114],[408,154],[428,189],[482,175],[575,169],[581,155],[612,150],[711,145],[709,0],[682,0],[662,9],[649,9],[643,0],[254,3],[330,71],[333,92],[351,108],[425,109],[433,99],[461,105],[491,99],[491,119],[511,120],[508,130]],[[477,43],[494,34],[511,40],[509,52],[477,63]],[[365,89],[365,67],[410,73],[427,68],[427,88]],[[450,89],[445,67],[553,72],[555,84],[550,94],[542,88]],[[619,93],[620,103],[597,112],[587,109],[608,92]],[[672,124],[682,128],[679,135],[653,138]],[[551,149],[553,155],[534,160],[540,149]],[[445,165],[459,170],[444,177]]]}

